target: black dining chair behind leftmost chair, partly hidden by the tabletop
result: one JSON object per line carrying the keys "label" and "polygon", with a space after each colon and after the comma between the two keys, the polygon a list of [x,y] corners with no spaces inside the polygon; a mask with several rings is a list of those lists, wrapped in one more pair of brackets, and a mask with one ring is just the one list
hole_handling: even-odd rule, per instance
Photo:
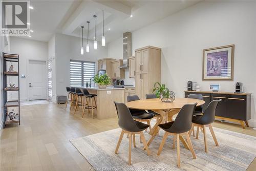
{"label": "black dining chair behind leftmost chair, partly hidden by the tabletop", "polygon": [[[133,96],[127,96],[127,102],[140,100],[140,98],[137,95]],[[145,110],[139,110],[139,109],[129,109],[133,118],[140,121],[140,122],[147,122],[148,125],[150,125],[150,121],[152,118],[155,117],[153,113],[147,113]],[[150,131],[151,131],[151,125],[150,125]]]}

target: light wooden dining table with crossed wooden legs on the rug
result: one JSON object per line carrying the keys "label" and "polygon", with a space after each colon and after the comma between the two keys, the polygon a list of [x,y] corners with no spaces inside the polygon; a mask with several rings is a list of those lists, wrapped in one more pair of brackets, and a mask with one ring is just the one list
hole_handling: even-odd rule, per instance
{"label": "light wooden dining table with crossed wooden legs on the rug", "polygon": [[[180,111],[183,105],[193,103],[197,103],[197,106],[199,106],[205,102],[203,100],[193,98],[176,98],[173,102],[162,102],[160,99],[155,98],[130,101],[125,104],[131,109],[152,110],[160,115],[157,123],[150,131],[152,136],[150,140],[147,141],[147,146],[149,146],[160,130],[158,124],[173,121],[173,116]],[[180,136],[180,140],[184,144],[184,147],[189,149],[186,140],[182,136]]]}

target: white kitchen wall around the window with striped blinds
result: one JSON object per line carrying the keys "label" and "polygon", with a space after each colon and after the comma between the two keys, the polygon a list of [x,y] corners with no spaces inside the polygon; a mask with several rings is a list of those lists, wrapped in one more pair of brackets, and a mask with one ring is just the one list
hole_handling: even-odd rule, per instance
{"label": "white kitchen wall around the window with striped blinds", "polygon": [[[83,40],[86,45],[87,40]],[[79,37],[68,36],[63,34],[55,35],[56,46],[56,96],[67,95],[66,87],[70,85],[70,59],[94,61],[96,62],[96,71],[98,70],[98,59],[108,57],[108,48],[102,47],[98,42],[98,49],[93,49],[93,41],[89,41],[90,52],[85,51],[80,54],[81,39]]]}

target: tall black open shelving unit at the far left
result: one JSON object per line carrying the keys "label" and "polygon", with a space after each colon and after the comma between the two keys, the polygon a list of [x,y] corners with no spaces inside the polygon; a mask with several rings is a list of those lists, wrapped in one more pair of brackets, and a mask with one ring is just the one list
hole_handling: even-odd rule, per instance
{"label": "tall black open shelving unit at the far left", "polygon": [[[17,62],[18,71],[17,72],[9,72],[7,69],[7,62]],[[7,85],[7,76],[16,76],[18,77],[18,88],[8,89]],[[3,89],[4,89],[4,128],[7,124],[18,123],[20,124],[20,103],[19,103],[19,55],[17,54],[9,54],[3,53]],[[17,91],[18,92],[18,100],[8,101],[7,92],[8,91]],[[8,108],[18,107],[18,113],[14,119],[10,120],[8,115]]]}

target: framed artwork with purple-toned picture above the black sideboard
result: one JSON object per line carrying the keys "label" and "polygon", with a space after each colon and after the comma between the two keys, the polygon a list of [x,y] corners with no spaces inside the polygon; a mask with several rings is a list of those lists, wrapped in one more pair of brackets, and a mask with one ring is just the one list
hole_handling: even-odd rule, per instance
{"label": "framed artwork with purple-toned picture above the black sideboard", "polygon": [[203,80],[233,80],[234,45],[203,50]]}

